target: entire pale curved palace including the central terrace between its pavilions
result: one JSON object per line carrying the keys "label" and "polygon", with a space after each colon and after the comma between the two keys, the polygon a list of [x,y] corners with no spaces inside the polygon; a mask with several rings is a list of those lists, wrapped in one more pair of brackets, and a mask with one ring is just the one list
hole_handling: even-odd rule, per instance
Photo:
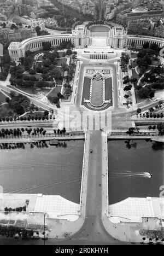
{"label": "entire pale curved palace including the central terrace between its pavilions", "polygon": [[[93,25],[94,26],[94,25]],[[101,27],[102,25],[97,25]],[[71,42],[75,45],[75,48],[92,48],[95,51],[90,55],[90,59],[96,59],[99,49],[104,51],[103,55],[100,55],[98,59],[108,59],[108,52],[112,54],[112,49],[130,48],[131,45],[135,48],[142,48],[145,42],[149,42],[150,45],[156,43],[160,47],[164,46],[163,38],[148,37],[148,36],[136,36],[129,35],[122,26],[115,26],[110,28],[108,26],[102,26],[102,28],[108,28],[103,32],[91,32],[85,26],[77,26],[72,34],[59,34],[59,35],[46,35],[40,37],[28,38],[22,42],[11,42],[9,45],[9,55],[12,61],[19,61],[20,57],[25,57],[26,51],[38,51],[43,49],[43,42],[50,42],[51,46],[55,48],[63,41]],[[98,49],[99,48],[99,49]],[[97,50],[96,50],[97,49]],[[84,54],[87,51],[84,51]],[[90,52],[88,52],[90,53]],[[99,56],[99,55],[98,55]]]}

